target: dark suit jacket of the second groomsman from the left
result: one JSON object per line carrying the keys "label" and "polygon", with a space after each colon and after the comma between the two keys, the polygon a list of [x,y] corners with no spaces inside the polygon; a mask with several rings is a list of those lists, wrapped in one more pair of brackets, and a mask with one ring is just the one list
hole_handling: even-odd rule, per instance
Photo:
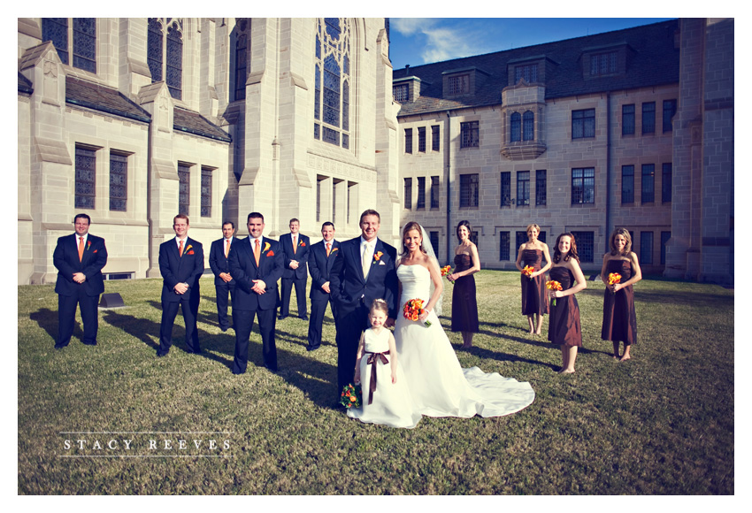
{"label": "dark suit jacket of the second groomsman from the left", "polygon": [[[201,242],[190,237],[186,239],[183,256],[180,257],[178,243],[175,239],[159,245],[159,272],[162,273],[162,301],[178,302],[180,299],[199,298],[198,279],[203,274],[203,246]],[[178,283],[188,283],[185,294],[176,294],[174,287]]]}

